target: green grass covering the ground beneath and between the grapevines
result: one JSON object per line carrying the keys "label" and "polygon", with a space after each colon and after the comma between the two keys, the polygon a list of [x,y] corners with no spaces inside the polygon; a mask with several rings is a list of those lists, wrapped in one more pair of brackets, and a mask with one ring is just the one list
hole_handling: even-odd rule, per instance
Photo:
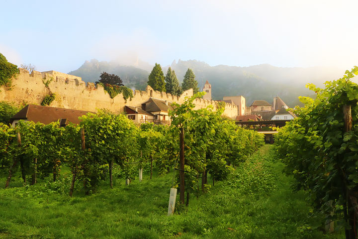
{"label": "green grass covering the ground beneath and between the grapevines", "polygon": [[114,189],[103,183],[97,193],[77,191],[73,198],[67,196],[69,178],[23,187],[16,176],[10,188],[0,189],[0,238],[344,238],[342,232],[324,235],[325,219],[311,217],[303,192],[292,193],[292,179],[282,174],[271,147],[209,193],[192,195],[188,207],[177,204],[172,217],[166,216],[172,173],[152,180],[145,174],[129,186],[117,179]]}

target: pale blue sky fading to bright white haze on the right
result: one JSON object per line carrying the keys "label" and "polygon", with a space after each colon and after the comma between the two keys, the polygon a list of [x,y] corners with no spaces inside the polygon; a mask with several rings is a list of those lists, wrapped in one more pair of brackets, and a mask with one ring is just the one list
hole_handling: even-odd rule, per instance
{"label": "pale blue sky fading to bright white haze on the right", "polygon": [[0,52],[69,72],[85,60],[358,65],[357,0],[1,0]]}

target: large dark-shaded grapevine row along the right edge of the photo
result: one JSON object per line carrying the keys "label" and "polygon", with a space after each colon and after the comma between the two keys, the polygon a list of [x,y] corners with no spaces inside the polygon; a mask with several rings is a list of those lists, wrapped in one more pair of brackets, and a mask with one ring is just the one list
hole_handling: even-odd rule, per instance
{"label": "large dark-shaded grapevine row along the right edge of the photo", "polygon": [[[295,111],[298,118],[275,136],[277,154],[286,164],[285,173],[296,179],[296,189],[307,190],[316,212],[335,208],[334,218],[344,215],[341,223],[346,228],[353,222],[348,198],[358,188],[358,85],[351,81],[355,75],[358,67],[339,80],[327,81],[324,89],[308,84],[316,99],[302,97],[305,107]],[[344,106],[352,108],[353,127],[347,132]]]}

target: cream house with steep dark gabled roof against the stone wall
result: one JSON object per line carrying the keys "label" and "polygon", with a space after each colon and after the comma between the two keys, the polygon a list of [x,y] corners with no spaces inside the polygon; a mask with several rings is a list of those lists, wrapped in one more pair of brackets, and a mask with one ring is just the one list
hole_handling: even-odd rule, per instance
{"label": "cream house with steep dark gabled roof against the stone wall", "polygon": [[125,106],[128,119],[134,122],[154,122],[158,124],[170,124],[169,111],[173,110],[172,102],[149,98],[138,107]]}

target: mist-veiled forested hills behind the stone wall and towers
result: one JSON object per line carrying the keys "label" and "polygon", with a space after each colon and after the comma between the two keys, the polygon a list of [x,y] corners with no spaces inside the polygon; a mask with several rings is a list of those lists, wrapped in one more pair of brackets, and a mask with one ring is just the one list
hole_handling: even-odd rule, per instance
{"label": "mist-veiled forested hills behind the stone wall and towers", "polygon": [[[337,68],[328,67],[275,67],[269,64],[249,67],[210,66],[197,60],[173,61],[170,66],[176,71],[179,82],[182,82],[188,68],[194,71],[200,88],[206,80],[209,81],[213,100],[222,100],[224,96],[242,95],[246,98],[247,106],[250,106],[254,100],[266,100],[272,103],[273,97],[277,95],[289,107],[301,105],[298,96],[313,96],[312,92],[305,88],[307,83],[323,86],[325,81],[338,79],[344,74]],[[169,65],[162,68],[166,74]],[[148,69],[150,65],[138,59],[128,65],[118,61],[92,59],[69,74],[80,76],[85,82],[95,82],[105,71],[118,75],[127,87],[144,90],[150,73]]]}

